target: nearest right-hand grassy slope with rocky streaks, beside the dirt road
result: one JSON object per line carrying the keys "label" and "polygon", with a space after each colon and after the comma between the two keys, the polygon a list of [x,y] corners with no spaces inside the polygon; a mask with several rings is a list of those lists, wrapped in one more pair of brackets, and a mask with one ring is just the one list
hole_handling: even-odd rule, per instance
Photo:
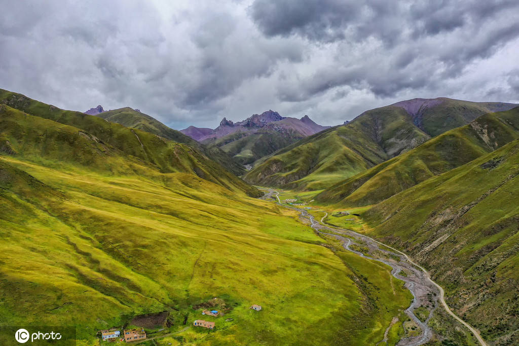
{"label": "nearest right-hand grassy slope with rocky streaks, beside the dirt road", "polygon": [[363,214],[371,235],[428,268],[492,345],[519,343],[519,140]]}

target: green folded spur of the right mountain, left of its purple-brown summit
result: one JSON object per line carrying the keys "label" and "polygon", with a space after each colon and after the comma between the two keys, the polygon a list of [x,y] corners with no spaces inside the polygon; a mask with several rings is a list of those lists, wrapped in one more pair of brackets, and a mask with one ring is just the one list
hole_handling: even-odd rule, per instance
{"label": "green folded spur of the right mountain, left of its purple-brown summit", "polygon": [[366,112],[347,125],[280,150],[258,163],[244,179],[284,189],[324,189],[428,138],[400,108]]}

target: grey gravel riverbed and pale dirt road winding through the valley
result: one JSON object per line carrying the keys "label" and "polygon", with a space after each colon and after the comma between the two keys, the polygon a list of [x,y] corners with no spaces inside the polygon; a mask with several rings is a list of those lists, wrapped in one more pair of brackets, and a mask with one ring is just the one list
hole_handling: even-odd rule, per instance
{"label": "grey gravel riverbed and pale dirt road winding through the valley", "polygon": [[[327,226],[324,223],[324,219],[326,218],[327,213],[325,213],[319,222],[316,221],[315,217],[309,214],[309,212],[305,209],[285,206],[281,204],[279,199],[279,192],[275,190],[269,190],[263,198],[270,199],[272,197],[276,197],[278,204],[286,208],[299,211],[301,213],[301,217],[310,221],[311,228],[316,232],[334,237],[342,243],[346,250],[349,250],[354,254],[389,265],[389,267],[392,268],[391,275],[405,282],[405,287],[413,295],[413,302],[405,310],[405,313],[420,327],[421,333],[418,336],[405,337],[401,339],[397,344],[398,346],[418,346],[431,340],[433,332],[432,329],[428,326],[428,322],[439,303],[443,305],[444,309],[449,315],[453,316],[458,322],[465,325],[476,336],[481,345],[486,346],[485,341],[474,328],[472,328],[465,321],[462,321],[458,316],[450,311],[447,303],[444,300],[443,288],[433,282],[427,271],[418,264],[414,263],[406,254],[363,234],[353,232],[351,230]],[[368,253],[362,254],[359,251],[353,250],[350,248],[352,245],[367,247]],[[406,274],[406,276],[400,275],[402,271]],[[420,321],[420,319],[414,313],[415,309],[419,307],[424,307],[429,310],[429,316],[425,322]],[[387,331],[388,330],[386,330],[386,332]],[[386,336],[385,339],[381,342],[387,343]]]}

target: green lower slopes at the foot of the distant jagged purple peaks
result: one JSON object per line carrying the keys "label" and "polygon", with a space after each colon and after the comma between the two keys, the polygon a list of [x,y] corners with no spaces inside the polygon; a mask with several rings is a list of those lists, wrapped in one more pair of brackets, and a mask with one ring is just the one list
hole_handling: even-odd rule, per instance
{"label": "green lower slopes at the foot of the distant jagged purple peaks", "polygon": [[277,131],[265,130],[254,134],[234,132],[222,138],[209,139],[204,143],[210,148],[220,148],[233,157],[236,162],[251,164],[301,138],[282,135]]}

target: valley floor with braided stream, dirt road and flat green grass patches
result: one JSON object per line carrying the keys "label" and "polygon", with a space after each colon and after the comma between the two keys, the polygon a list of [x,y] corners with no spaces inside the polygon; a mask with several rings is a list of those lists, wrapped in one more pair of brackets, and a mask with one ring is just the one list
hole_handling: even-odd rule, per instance
{"label": "valley floor with braided stream, dirt road and flat green grass patches", "polygon": [[[283,191],[281,198],[284,200],[287,198],[309,200],[314,193],[316,192]],[[402,339],[397,345],[449,344],[451,339],[456,340],[456,343],[453,344],[486,345],[477,330],[462,321],[448,308],[443,298],[443,289],[430,279],[424,268],[412,262],[403,252],[345,228],[346,226],[359,232],[365,232],[363,222],[357,212],[365,211],[369,207],[348,209],[349,212],[343,211],[346,215],[342,215],[341,211],[336,210],[332,212],[334,217],[329,219],[329,213],[320,207],[308,207],[307,203],[303,203],[304,207],[293,206],[293,204],[302,203],[301,201],[292,203],[292,205],[286,202],[281,203],[280,194],[276,190],[269,189],[264,198],[277,200],[279,204],[299,211],[301,217],[308,220],[318,234],[332,239],[332,244],[335,243],[363,258],[387,264],[391,268],[391,275],[405,282],[405,287],[413,294],[413,302],[405,310],[406,316],[401,314],[393,317],[386,332],[388,334],[392,329],[400,329],[399,335]],[[391,286],[393,286],[392,282]],[[442,320],[441,326],[434,321],[440,319]],[[408,328],[410,324],[413,327]],[[385,338],[380,343],[386,344],[387,341]],[[442,341],[443,343],[441,343]]]}

